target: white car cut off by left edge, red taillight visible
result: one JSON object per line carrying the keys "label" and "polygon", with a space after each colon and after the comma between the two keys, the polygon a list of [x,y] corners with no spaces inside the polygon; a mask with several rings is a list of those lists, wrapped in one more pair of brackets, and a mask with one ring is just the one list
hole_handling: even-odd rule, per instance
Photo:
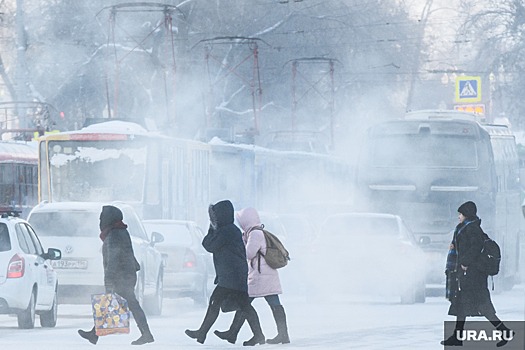
{"label": "white car cut off by left edge, red taillight visible", "polygon": [[31,225],[12,214],[0,218],[0,314],[16,314],[19,328],[57,323],[58,249],[44,248]]}

